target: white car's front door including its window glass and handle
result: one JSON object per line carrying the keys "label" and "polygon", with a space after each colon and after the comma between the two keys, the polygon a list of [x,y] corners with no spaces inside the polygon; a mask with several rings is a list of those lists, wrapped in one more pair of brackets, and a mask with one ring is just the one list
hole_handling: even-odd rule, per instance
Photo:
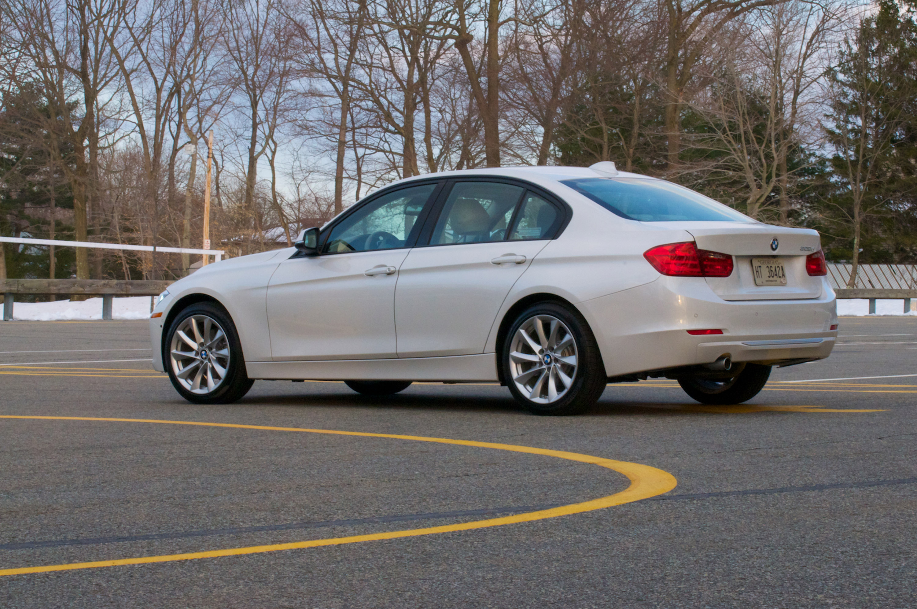
{"label": "white car's front door including its window glass and handle", "polygon": [[395,282],[435,187],[382,194],[331,227],[318,256],[281,263],[267,295],[274,361],[397,357]]}

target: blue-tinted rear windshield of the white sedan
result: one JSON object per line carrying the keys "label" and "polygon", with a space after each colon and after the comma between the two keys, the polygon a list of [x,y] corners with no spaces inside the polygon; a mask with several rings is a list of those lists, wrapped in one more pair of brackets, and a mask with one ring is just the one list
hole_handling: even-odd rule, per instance
{"label": "blue-tinted rear windshield of the white sedan", "polygon": [[561,183],[628,220],[754,222],[750,217],[703,194],[662,180],[580,178],[564,180]]}

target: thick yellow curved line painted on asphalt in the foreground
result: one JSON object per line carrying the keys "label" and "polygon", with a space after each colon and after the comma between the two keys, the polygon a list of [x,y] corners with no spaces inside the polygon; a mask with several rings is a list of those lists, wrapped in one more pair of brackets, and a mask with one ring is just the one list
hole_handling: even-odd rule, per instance
{"label": "thick yellow curved line painted on asphalt in the foreground", "polygon": [[498,444],[494,442],[476,442],[473,440],[454,440],[445,437],[423,437],[423,436],[401,436],[397,434],[372,434],[359,431],[336,431],[332,429],[304,429],[302,427],[272,427],[260,425],[237,425],[232,423],[201,423],[197,421],[166,421],[159,419],[129,419],[129,418],[105,418],[94,416],[26,416],[26,415],[0,415],[0,418],[6,419],[45,419],[59,421],[106,421],[116,423],[159,423],[166,425],[191,425],[205,427],[232,427],[237,429],[260,429],[264,431],[296,431],[310,434],[328,434],[334,436],[358,436],[358,437],[390,437],[394,439],[415,440],[419,442],[435,442],[437,444],[457,444],[458,446],[472,446],[480,448],[496,448],[498,450],[509,450],[512,452],[524,452],[532,455],[546,455],[547,457],[557,457],[571,461],[580,461],[581,463],[590,463],[592,465],[601,465],[609,470],[617,471],[624,474],[630,480],[630,486],[620,493],[614,493],[606,497],[600,497],[591,501],[580,504],[561,505],[548,510],[538,510],[536,512],[526,512],[525,514],[516,514],[503,516],[500,518],[489,518],[487,520],[475,520],[472,522],[461,523],[458,525],[430,526],[426,528],[412,528],[403,531],[390,531],[387,533],[373,533],[370,535],[356,535],[352,537],[331,537],[327,539],[310,539],[308,541],[295,541],[286,544],[271,544],[268,546],[250,546],[249,548],[228,548],[216,549],[206,552],[189,552],[186,554],[169,554],[165,556],[144,556],[135,559],[115,559],[115,560],[94,560],[93,562],[74,562],[63,565],[47,565],[43,567],[22,567],[19,569],[2,569],[0,576],[4,575],[21,575],[24,573],[43,573],[58,570],[74,569],[95,569],[99,567],[116,567],[120,565],[139,565],[151,562],[171,562],[173,560],[192,560],[192,559],[214,559],[221,556],[238,556],[240,554],[258,554],[261,552],[276,552],[284,549],[299,548],[319,548],[322,546],[340,546],[343,544],[359,543],[362,541],[378,541],[381,539],[397,539],[399,537],[418,537],[422,535],[435,535],[437,533],[451,533],[455,531],[468,531],[475,528],[486,528],[488,526],[514,525],[521,522],[531,522],[533,520],[542,520],[544,518],[556,518],[563,515],[580,514],[582,512],[591,512],[603,507],[612,507],[613,505],[629,504],[641,499],[655,497],[658,494],[668,493],[675,488],[678,481],[675,476],[648,465],[639,463],[630,463],[628,461],[616,461],[611,459],[602,459],[601,457],[592,457],[591,455],[582,455],[576,452],[567,452],[564,450],[550,450],[547,448],[533,448],[526,446],[516,446],[514,444]]}

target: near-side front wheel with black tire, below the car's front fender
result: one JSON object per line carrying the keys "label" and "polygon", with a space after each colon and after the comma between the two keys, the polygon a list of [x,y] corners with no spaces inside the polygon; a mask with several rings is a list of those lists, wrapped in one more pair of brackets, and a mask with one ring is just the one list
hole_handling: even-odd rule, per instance
{"label": "near-side front wheel with black tire, below the car's front fender", "polygon": [[[181,337],[176,337],[176,332],[182,327],[188,327],[188,323],[196,323],[200,330],[200,326],[206,319],[215,322],[216,328],[222,330],[224,335],[224,338],[219,338],[219,335],[215,331],[210,332],[210,336],[215,337],[213,339],[213,353],[208,352],[208,347],[211,346],[211,343],[206,342],[206,340],[202,343],[198,343],[199,347],[203,346],[203,351],[202,349],[197,349],[195,351],[190,343],[182,341]],[[213,324],[210,324],[210,327],[212,328]],[[207,333],[204,332],[204,334]],[[185,336],[188,335],[185,334]],[[209,339],[210,336],[208,336],[207,339]],[[193,342],[196,341],[193,337],[189,338],[191,338]],[[180,349],[187,349],[186,352],[189,354],[187,357],[173,358],[173,340],[178,343]],[[223,360],[223,351],[226,351],[228,354],[226,360]],[[191,355],[192,353],[195,355]],[[198,357],[202,353],[204,356],[203,360]],[[217,353],[221,355],[217,355]],[[188,379],[182,380],[179,378],[182,371],[191,368],[194,360],[207,362],[206,364],[199,365],[202,369],[205,369],[205,366],[215,365],[215,367],[218,366],[221,370],[225,371],[225,374],[223,374],[220,381],[215,384],[212,390],[207,391],[206,389],[198,388],[195,391],[193,390],[193,381],[191,387],[186,387],[185,384],[188,382]],[[226,363],[225,368],[221,366],[223,363]],[[252,379],[249,379],[245,369],[245,358],[242,355],[242,343],[238,339],[236,325],[233,324],[226,310],[215,303],[204,302],[190,304],[182,309],[182,312],[179,313],[178,316],[175,316],[175,319],[172,320],[168,331],[162,339],[162,364],[169,373],[169,379],[171,380],[172,386],[175,387],[175,390],[185,400],[193,404],[232,404],[246,393],[249,393],[249,389],[251,389],[251,385],[254,383]],[[186,367],[182,367],[182,364]],[[215,368],[211,376],[213,372],[215,372]],[[205,379],[201,378],[204,375],[197,375],[196,371],[187,374],[187,376],[192,378],[197,376],[198,385],[200,385],[201,382],[206,382]]]}

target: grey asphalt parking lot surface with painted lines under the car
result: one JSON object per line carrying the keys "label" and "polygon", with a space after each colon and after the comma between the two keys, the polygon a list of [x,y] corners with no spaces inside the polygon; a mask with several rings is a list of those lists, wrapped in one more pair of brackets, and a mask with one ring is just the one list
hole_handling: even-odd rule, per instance
{"label": "grey asphalt parking lot surface with painted lines under the car", "polygon": [[915,359],[914,317],[845,317],[737,406],[671,381],[563,418],[492,384],[199,406],[145,322],[4,322],[0,607],[913,606]]}

